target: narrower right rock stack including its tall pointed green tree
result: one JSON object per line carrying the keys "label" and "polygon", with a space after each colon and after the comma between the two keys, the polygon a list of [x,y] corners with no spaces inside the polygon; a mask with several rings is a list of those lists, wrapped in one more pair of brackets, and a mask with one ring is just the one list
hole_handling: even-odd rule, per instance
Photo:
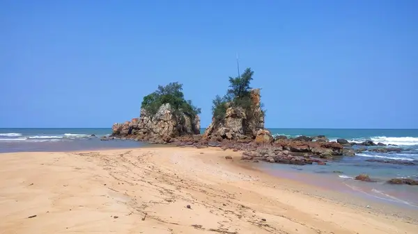
{"label": "narrower right rock stack including its tall pointed green tree", "polygon": [[265,110],[260,100],[260,89],[249,86],[253,75],[254,72],[247,68],[241,76],[229,77],[230,89],[226,95],[217,95],[212,101],[212,122],[203,137],[230,140],[256,138],[258,130],[264,128]]}

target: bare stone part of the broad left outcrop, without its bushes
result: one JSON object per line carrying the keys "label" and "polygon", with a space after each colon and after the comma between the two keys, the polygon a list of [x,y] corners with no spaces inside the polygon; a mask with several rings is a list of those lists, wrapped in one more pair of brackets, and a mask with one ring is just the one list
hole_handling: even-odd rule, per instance
{"label": "bare stone part of the broad left outcrop, without its bushes", "polygon": [[200,119],[198,115],[190,117],[181,111],[175,111],[169,103],[165,103],[153,116],[141,109],[139,118],[123,124],[114,124],[112,132],[112,135],[117,137],[170,142],[174,137],[199,134]]}

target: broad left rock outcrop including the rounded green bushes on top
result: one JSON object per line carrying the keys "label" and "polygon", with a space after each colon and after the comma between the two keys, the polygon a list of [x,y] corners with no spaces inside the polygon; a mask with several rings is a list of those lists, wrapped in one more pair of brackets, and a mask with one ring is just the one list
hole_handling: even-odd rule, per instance
{"label": "broad left rock outcrop including the rounded green bushes on top", "polygon": [[183,85],[169,83],[144,97],[139,118],[114,124],[112,135],[136,140],[170,142],[174,137],[200,133],[200,109],[183,95]]}

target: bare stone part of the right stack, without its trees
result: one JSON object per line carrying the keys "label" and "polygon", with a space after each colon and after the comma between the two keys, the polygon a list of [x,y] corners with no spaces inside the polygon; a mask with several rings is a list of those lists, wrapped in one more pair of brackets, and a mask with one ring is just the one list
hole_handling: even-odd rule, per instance
{"label": "bare stone part of the right stack, without its trees", "polygon": [[255,139],[258,130],[264,128],[264,115],[261,110],[260,89],[253,89],[250,93],[253,107],[245,111],[240,107],[227,104],[224,119],[212,118],[212,123],[203,133],[203,138],[222,137],[226,139]]}

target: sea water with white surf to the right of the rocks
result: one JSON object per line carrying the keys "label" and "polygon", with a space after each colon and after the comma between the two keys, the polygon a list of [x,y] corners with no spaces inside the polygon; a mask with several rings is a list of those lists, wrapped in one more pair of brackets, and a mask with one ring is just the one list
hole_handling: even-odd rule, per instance
{"label": "sea water with white surf to the right of the rocks", "polygon": [[[270,129],[273,135],[297,137],[300,135],[325,135],[330,141],[343,138],[349,142],[372,140],[375,143],[395,144],[401,152],[376,153],[364,151],[356,156],[336,158],[327,165],[280,165],[263,163],[268,172],[287,178],[302,180],[318,186],[343,190],[369,199],[377,199],[418,209],[418,186],[391,185],[391,178],[418,180],[418,130],[417,129]],[[371,147],[373,148],[373,147]],[[396,160],[414,162],[402,165],[367,160]],[[356,181],[359,174],[368,174],[377,182]]]}

